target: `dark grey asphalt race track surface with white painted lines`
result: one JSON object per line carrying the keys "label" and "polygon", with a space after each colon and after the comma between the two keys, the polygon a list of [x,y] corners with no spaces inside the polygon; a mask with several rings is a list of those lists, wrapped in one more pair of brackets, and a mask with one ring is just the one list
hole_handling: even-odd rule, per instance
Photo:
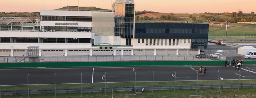
{"label": "dark grey asphalt race track surface with white painted lines", "polygon": [[[136,69],[136,82],[154,82],[197,80],[197,71],[200,66],[144,66],[144,67],[79,67],[79,68],[25,68],[0,69],[0,85],[26,85],[29,84],[66,84],[66,83],[104,83],[102,76],[106,74],[107,82],[134,82]],[[198,80],[218,80],[219,76],[225,80],[238,79],[239,71],[234,67],[203,66],[207,67],[207,74],[198,76]],[[256,79],[256,65],[242,65],[240,79]],[[153,72],[152,72],[153,71]],[[198,71],[199,72],[199,71]],[[56,73],[56,77],[55,77]],[[29,76],[28,76],[29,74]]]}

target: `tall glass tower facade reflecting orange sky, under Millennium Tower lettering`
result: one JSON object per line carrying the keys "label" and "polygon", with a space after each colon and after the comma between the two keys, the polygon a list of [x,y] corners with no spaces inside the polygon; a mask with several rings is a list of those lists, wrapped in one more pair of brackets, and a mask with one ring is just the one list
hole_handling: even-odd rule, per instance
{"label": "tall glass tower facade reflecting orange sky, under Millennium Tower lettering", "polygon": [[115,4],[115,36],[133,38],[134,4]]}

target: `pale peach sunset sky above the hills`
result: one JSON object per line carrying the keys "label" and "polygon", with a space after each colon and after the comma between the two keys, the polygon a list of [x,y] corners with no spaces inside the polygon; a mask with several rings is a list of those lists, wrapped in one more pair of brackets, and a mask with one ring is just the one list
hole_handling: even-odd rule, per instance
{"label": "pale peach sunset sky above the hills", "polygon": [[[38,12],[68,6],[111,9],[115,0],[1,0],[0,12]],[[256,0],[134,0],[135,11],[163,13],[256,12]]]}

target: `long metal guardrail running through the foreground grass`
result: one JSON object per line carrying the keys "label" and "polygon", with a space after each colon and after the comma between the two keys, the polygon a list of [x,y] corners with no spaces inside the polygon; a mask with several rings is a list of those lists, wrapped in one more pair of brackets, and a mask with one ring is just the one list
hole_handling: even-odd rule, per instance
{"label": "long metal guardrail running through the foreground grass", "polygon": [[[202,84],[202,85],[171,85],[171,86],[136,86],[136,91],[152,90],[185,90],[185,89],[212,89],[212,88],[255,88],[256,83],[244,84]],[[24,94],[68,94],[68,93],[97,93],[113,91],[134,91],[135,87],[94,87],[94,88],[56,88],[56,89],[29,89],[29,90],[1,90],[1,95],[24,95]]]}

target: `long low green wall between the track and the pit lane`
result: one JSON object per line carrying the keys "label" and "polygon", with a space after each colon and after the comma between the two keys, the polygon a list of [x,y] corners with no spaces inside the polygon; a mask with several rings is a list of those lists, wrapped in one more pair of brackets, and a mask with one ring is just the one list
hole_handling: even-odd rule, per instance
{"label": "long low green wall between the track and the pit lane", "polygon": [[[256,61],[245,61],[254,65]],[[225,61],[107,61],[107,62],[45,62],[45,63],[0,63],[0,68],[28,67],[99,67],[99,66],[153,66],[153,65],[224,65]]]}

